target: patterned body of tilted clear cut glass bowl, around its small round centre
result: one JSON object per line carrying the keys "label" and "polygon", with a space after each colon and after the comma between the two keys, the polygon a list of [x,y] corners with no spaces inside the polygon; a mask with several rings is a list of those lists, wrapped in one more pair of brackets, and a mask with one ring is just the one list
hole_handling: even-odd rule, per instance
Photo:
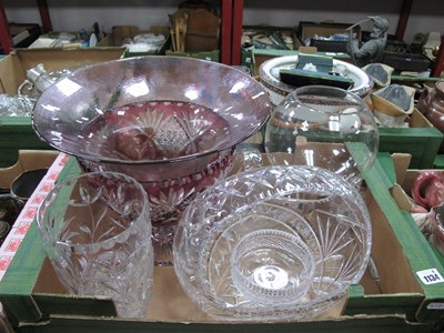
{"label": "patterned body of tilted clear cut glass bowl, around its small round centre", "polygon": [[[295,235],[312,252],[314,276],[303,297],[270,305],[236,289],[231,253],[245,235],[265,229]],[[260,168],[199,194],[180,221],[173,248],[180,283],[209,314],[226,321],[310,319],[360,281],[371,222],[359,192],[327,170]]]}

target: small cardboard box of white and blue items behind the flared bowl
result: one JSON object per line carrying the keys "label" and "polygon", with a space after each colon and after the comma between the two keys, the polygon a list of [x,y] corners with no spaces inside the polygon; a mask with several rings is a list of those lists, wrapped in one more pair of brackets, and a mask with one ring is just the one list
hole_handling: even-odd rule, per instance
{"label": "small cardboard box of white and blue items behind the flared bowl", "polygon": [[142,33],[159,33],[165,37],[165,42],[157,51],[148,51],[148,52],[131,52],[129,50],[125,51],[124,57],[140,57],[140,56],[151,56],[151,54],[165,54],[165,50],[170,46],[170,30],[168,27],[151,27],[148,30],[141,30],[135,26],[114,26],[112,27],[112,31],[107,34],[99,43],[98,47],[122,47],[125,39],[133,39],[138,34]]}

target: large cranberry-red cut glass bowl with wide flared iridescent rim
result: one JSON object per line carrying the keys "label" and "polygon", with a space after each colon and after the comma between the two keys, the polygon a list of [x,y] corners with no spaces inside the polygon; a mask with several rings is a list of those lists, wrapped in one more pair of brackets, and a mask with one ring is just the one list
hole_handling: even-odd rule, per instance
{"label": "large cranberry-red cut glass bowl with wide flared iridescent rim", "polygon": [[262,84],[240,70],[150,56],[63,77],[37,101],[32,125],[85,171],[121,172],[142,183],[154,248],[171,248],[183,208],[226,174],[234,147],[270,113]]}

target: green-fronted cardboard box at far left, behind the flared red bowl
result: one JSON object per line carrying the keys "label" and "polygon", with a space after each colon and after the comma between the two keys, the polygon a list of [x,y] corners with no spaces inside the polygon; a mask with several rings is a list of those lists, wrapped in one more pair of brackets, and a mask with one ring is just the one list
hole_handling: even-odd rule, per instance
{"label": "green-fronted cardboard box at far left, behind the flared red bowl", "polygon": [[[17,49],[0,60],[0,93],[16,95],[26,72],[43,63],[48,72],[120,59],[124,48],[110,49]],[[30,117],[0,117],[0,168],[10,167],[20,149],[50,149],[31,127]]]}

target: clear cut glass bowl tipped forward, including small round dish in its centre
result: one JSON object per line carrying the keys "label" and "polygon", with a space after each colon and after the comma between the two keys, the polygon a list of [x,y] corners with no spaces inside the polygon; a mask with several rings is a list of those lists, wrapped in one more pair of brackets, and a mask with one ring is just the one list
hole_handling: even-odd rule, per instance
{"label": "clear cut glass bowl tipped forward, including small round dish in its centre", "polygon": [[218,320],[306,320],[360,282],[371,243],[366,205],[343,178],[315,167],[261,167],[189,204],[174,238],[174,270]]}

